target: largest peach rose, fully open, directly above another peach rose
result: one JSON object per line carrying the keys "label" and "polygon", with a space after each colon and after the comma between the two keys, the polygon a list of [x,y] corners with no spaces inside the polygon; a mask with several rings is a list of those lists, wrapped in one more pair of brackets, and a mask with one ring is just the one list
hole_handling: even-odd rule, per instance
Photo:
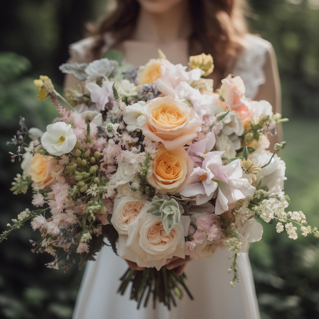
{"label": "largest peach rose, fully open, directly above another peach rose", "polygon": [[143,134],[161,142],[167,149],[192,143],[200,131],[200,119],[188,104],[170,96],[157,97],[146,103],[147,122]]}

